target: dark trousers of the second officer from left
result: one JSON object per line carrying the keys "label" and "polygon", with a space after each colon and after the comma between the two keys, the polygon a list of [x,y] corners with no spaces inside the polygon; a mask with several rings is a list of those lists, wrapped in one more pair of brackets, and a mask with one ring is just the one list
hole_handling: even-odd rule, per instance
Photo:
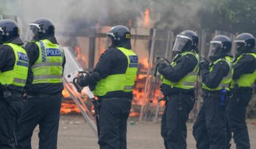
{"label": "dark trousers of the second officer from left", "polygon": [[56,149],[62,95],[28,96],[18,119],[18,149],[31,149],[31,137],[39,124],[40,149]]}

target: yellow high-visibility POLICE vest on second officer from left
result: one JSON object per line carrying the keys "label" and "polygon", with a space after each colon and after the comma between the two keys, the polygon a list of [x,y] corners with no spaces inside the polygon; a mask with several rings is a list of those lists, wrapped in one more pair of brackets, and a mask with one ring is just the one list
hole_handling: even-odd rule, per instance
{"label": "yellow high-visibility POLICE vest on second officer from left", "polygon": [[32,84],[62,82],[62,63],[64,58],[62,48],[49,40],[40,40],[35,43],[39,48],[39,57],[32,65],[34,74]]}

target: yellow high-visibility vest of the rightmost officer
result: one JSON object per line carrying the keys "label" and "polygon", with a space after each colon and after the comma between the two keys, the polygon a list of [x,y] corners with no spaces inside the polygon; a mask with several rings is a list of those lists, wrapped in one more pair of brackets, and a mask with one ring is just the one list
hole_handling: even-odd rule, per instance
{"label": "yellow high-visibility vest of the rightmost officer", "polygon": [[[246,53],[245,55],[252,55],[254,58],[256,58],[255,53]],[[237,61],[234,63],[234,65],[237,64],[237,62],[243,57],[244,55],[240,55],[237,58]],[[231,87],[233,88],[235,84],[237,84],[238,87],[253,87],[253,83],[256,79],[256,70],[253,73],[243,74],[240,75],[238,80],[232,80]]]}

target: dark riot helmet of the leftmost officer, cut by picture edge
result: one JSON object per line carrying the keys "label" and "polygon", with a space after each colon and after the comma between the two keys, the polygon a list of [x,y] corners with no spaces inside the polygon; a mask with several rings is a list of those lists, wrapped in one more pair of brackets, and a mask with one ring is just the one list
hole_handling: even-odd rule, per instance
{"label": "dark riot helmet of the leftmost officer, cut by picture edge", "polygon": [[19,38],[19,27],[15,21],[3,19],[0,21],[0,43],[23,44]]}

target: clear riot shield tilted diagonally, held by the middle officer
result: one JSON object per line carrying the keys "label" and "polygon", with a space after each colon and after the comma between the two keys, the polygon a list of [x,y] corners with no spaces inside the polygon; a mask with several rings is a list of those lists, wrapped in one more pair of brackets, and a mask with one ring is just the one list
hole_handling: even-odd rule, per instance
{"label": "clear riot shield tilted diagonally, held by the middle officer", "polygon": [[83,71],[81,65],[77,63],[69,47],[63,47],[66,65],[64,67],[63,82],[71,98],[73,98],[75,104],[80,109],[83,117],[86,119],[90,128],[97,135],[96,120],[94,119],[94,106],[92,104],[93,93],[88,87],[84,87],[82,92],[79,93],[77,88],[73,84],[73,79],[79,75],[79,71]]}

